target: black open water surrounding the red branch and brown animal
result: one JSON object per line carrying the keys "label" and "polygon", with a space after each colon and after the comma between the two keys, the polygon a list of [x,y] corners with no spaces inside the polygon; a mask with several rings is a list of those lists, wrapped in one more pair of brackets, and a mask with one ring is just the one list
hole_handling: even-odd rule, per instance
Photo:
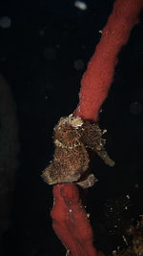
{"label": "black open water surrounding the red branch and brown animal", "polygon": [[[80,79],[100,39],[99,31],[112,11],[112,3],[87,1],[88,9],[81,11],[72,0],[0,2],[0,17],[8,16],[11,20],[10,28],[0,28],[0,73],[10,83],[16,103],[21,145],[12,224],[3,236],[5,255],[65,255],[65,248],[51,228],[52,187],[40,175],[52,158],[53,126],[76,108]],[[78,69],[75,61],[79,59],[83,65]],[[107,150],[115,166],[110,168],[97,157],[92,163],[98,182],[89,190],[88,211],[95,244],[106,253],[124,245],[121,237],[126,222],[143,213],[142,108],[141,15],[119,54],[110,94],[100,114],[100,127],[108,130]],[[127,194],[130,203],[124,201]],[[106,205],[115,202],[121,205],[118,204],[117,213],[115,209],[111,213]],[[118,217],[121,230],[114,230]]]}

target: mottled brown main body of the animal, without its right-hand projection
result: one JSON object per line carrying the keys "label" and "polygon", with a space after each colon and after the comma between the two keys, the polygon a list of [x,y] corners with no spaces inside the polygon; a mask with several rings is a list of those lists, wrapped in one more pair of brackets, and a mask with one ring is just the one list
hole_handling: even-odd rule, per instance
{"label": "mottled brown main body of the animal, without its right-hand projection", "polygon": [[[81,118],[80,122],[82,126]],[[89,154],[81,141],[80,126],[73,127],[72,116],[61,117],[55,126],[53,160],[42,175],[49,184],[77,181],[88,169]]]}

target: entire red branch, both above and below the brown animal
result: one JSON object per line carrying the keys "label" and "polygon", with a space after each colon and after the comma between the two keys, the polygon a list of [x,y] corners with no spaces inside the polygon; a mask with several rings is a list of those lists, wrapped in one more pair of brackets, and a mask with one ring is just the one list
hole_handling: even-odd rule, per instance
{"label": "entire red branch, both above and below the brown animal", "polygon": [[[116,0],[102,37],[81,80],[80,100],[75,117],[94,122],[112,84],[117,54],[138,22],[143,0]],[[60,141],[56,141],[62,147]],[[71,256],[103,255],[94,248],[92,227],[75,183],[53,186],[52,226]]]}

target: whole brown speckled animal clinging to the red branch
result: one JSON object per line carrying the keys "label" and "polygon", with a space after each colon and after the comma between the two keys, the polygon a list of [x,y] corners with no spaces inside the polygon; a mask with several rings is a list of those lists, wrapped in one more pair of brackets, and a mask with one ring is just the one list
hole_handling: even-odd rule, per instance
{"label": "whole brown speckled animal clinging to the red branch", "polygon": [[104,149],[102,134],[97,124],[83,121],[81,117],[61,117],[54,128],[55,150],[53,160],[43,172],[44,180],[49,184],[79,181],[89,168],[89,149],[113,166]]}

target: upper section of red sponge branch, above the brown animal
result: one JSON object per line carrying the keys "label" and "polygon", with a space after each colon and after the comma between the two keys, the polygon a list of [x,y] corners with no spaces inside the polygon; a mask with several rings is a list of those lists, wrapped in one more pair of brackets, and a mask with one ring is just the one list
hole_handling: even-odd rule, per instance
{"label": "upper section of red sponge branch, above the brown animal", "polygon": [[143,0],[117,0],[114,3],[100,42],[82,77],[75,116],[98,120],[99,110],[112,84],[117,55],[127,43],[142,8]]}

